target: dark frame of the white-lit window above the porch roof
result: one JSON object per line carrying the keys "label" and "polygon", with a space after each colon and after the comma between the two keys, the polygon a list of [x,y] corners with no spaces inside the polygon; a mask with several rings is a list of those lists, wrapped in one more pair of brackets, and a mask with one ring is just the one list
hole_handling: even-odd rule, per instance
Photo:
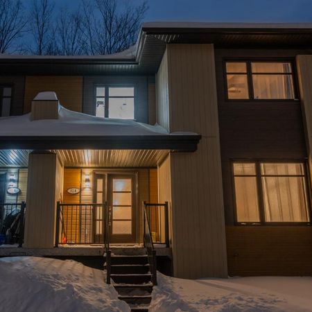
{"label": "dark frame of the white-lit window above the porch roof", "polygon": [[[93,114],[96,116],[96,88],[98,87],[104,87],[105,88],[105,112],[104,112],[104,118],[110,119],[108,116],[108,109],[110,106],[109,103],[109,98],[133,98],[134,102],[134,107],[133,107],[133,119],[124,119],[124,120],[133,120],[136,121],[136,112],[135,112],[135,107],[136,107],[136,98],[137,98],[137,88],[133,84],[127,84],[127,83],[95,83],[94,84],[94,100],[93,100]],[[109,89],[110,88],[133,88],[133,96],[109,96]],[[108,105],[106,105],[106,103]]]}

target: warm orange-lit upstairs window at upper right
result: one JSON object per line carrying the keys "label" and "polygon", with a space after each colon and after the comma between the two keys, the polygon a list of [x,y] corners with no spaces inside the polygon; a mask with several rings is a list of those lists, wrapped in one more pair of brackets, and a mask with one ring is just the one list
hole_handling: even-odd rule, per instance
{"label": "warm orange-lit upstairs window at upper right", "polygon": [[295,99],[291,62],[226,62],[230,100]]}

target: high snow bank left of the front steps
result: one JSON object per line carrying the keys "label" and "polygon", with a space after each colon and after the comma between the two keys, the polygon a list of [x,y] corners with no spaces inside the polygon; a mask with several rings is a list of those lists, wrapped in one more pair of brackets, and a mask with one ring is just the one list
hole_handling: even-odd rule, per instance
{"label": "high snow bank left of the front steps", "polygon": [[102,270],[71,260],[0,259],[0,311],[130,311]]}

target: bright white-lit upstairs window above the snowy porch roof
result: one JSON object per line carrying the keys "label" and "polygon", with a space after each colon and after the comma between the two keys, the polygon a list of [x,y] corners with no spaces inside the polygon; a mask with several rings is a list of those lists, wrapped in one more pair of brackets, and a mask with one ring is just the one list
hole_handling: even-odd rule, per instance
{"label": "bright white-lit upstairs window above the snowy porch roof", "polygon": [[97,86],[96,116],[135,119],[135,88]]}

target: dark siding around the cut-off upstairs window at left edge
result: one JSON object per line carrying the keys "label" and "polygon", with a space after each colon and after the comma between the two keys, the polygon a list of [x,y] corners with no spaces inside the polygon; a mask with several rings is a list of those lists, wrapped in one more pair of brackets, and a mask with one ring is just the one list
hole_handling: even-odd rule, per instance
{"label": "dark siding around the cut-off upstairs window at left edge", "polygon": [[0,85],[12,85],[12,103],[11,103],[11,115],[23,114],[24,106],[24,76],[1,76]]}

